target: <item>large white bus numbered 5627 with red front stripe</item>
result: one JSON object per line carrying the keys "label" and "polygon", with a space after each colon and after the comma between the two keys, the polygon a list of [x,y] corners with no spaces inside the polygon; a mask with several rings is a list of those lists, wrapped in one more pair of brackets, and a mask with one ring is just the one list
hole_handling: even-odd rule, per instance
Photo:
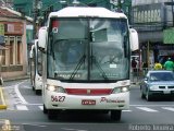
{"label": "large white bus numbered 5627 with red front stripe", "polygon": [[110,112],[129,108],[130,43],[126,15],[104,8],[51,12],[39,29],[44,52],[42,100],[49,119],[64,110]]}

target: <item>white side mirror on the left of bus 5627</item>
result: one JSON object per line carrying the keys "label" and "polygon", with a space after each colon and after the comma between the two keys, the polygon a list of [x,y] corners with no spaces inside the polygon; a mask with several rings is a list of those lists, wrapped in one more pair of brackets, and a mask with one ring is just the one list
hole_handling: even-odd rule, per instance
{"label": "white side mirror on the left of bus 5627", "polygon": [[38,46],[42,50],[46,48],[46,40],[47,40],[47,27],[40,27],[39,35],[38,35]]}

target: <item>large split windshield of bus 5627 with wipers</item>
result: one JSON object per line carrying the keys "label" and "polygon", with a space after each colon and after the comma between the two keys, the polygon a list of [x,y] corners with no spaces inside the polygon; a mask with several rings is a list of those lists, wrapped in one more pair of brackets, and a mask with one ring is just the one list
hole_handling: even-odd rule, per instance
{"label": "large split windshield of bus 5627 with wipers", "polygon": [[51,19],[47,74],[60,81],[117,81],[129,76],[125,19]]}

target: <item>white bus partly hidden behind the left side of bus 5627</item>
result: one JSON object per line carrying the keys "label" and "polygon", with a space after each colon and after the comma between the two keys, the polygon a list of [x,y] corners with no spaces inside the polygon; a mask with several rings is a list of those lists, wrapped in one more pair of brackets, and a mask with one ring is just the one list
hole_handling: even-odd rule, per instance
{"label": "white bus partly hidden behind the left side of bus 5627", "polygon": [[29,52],[29,67],[30,67],[30,83],[33,86],[33,91],[36,92],[37,95],[41,93],[41,51],[38,49],[38,39],[35,39],[35,44],[32,46]]}

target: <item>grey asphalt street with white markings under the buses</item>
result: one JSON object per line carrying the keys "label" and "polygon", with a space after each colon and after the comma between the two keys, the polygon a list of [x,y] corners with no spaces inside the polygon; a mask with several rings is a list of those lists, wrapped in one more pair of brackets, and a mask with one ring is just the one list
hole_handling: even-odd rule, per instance
{"label": "grey asphalt street with white markings under the buses", "polygon": [[[3,85],[7,110],[0,110],[1,119],[9,120],[11,126],[18,126],[27,131],[115,131],[115,129],[133,130],[134,124],[152,126],[173,124],[174,102],[156,99],[147,102],[140,98],[139,86],[130,88],[129,110],[123,110],[121,121],[110,120],[103,114],[63,112],[57,120],[49,120],[42,112],[41,95],[36,95],[29,80],[7,82]],[[132,127],[133,124],[133,127]],[[133,129],[132,129],[133,128]]]}

